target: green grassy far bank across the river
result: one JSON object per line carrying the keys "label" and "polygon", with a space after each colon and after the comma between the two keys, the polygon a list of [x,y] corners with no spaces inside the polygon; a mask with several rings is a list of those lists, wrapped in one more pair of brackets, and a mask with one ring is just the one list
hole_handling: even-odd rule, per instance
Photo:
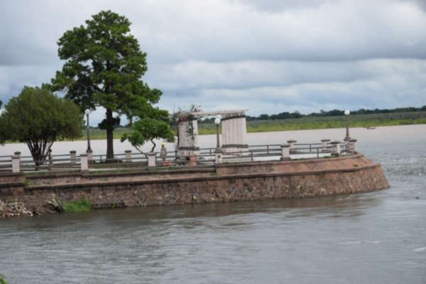
{"label": "green grassy far bank across the river", "polygon": [[[351,115],[351,127],[368,126],[393,126],[408,124],[426,124],[426,111],[389,113],[389,114],[357,114]],[[268,131],[290,131],[306,129],[337,129],[345,126],[344,116],[307,116],[300,119],[275,119],[247,121],[247,132],[268,132]],[[198,124],[198,132],[203,134],[216,133],[216,126],[213,123]],[[121,138],[127,129],[117,128],[114,131],[114,138]],[[83,131],[80,140],[85,140],[86,131]],[[96,139],[106,139],[107,133],[100,129],[90,129],[90,137]]]}

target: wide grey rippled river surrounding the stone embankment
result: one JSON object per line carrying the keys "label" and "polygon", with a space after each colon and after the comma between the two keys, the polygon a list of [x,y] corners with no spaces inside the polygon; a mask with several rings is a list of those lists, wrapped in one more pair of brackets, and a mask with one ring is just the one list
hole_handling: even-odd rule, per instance
{"label": "wide grey rippled river surrounding the stone embankment", "polygon": [[[426,125],[351,136],[390,189],[0,219],[0,273],[16,284],[426,283]],[[253,133],[249,144],[343,137]]]}

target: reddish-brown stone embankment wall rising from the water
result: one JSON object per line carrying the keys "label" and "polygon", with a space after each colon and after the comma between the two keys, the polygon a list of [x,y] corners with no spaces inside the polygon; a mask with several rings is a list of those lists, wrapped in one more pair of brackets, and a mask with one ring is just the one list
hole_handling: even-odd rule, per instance
{"label": "reddish-brown stone embankment wall rising from the water", "polygon": [[388,188],[380,163],[364,155],[221,164],[133,173],[0,176],[0,198],[31,212],[87,199],[94,208],[317,197]]}

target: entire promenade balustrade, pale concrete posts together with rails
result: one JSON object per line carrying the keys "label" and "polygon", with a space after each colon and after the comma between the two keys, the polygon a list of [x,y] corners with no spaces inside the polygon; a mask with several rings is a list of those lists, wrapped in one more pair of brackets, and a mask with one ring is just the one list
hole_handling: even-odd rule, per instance
{"label": "entire promenade balustrade, pale concrete posts together with rails", "polygon": [[[245,151],[244,155],[242,155],[241,152],[229,153],[222,148],[204,148],[200,149],[200,156],[197,157],[197,162],[195,163],[192,163],[193,161],[189,159],[191,157],[180,157],[173,155],[175,152],[168,152],[167,165],[209,165],[213,163],[221,164],[224,163],[224,161],[242,162],[247,160],[277,160],[277,158],[285,161],[296,158],[296,155],[297,158],[320,158],[324,155],[330,155],[330,153],[334,156],[358,153],[356,139],[354,138],[344,143],[340,141],[330,141],[328,138],[322,139],[321,143],[296,144],[297,141],[295,139],[288,140],[287,142],[288,143],[283,143],[281,145],[249,146],[249,150]],[[146,166],[148,162],[148,168],[153,169],[156,167],[157,163],[160,165],[160,155],[157,155],[157,153],[132,154],[131,150],[126,150],[124,153],[116,155],[114,160],[102,159],[102,155],[91,155],[92,153],[82,153],[77,157],[77,153],[74,150],[70,151],[70,155],[55,155],[55,157],[50,153],[48,159],[39,162],[40,166],[34,166],[31,156],[22,157],[20,152],[15,152],[14,154],[13,157],[9,156],[12,158],[12,165],[10,162],[9,165],[3,165],[4,168],[10,169],[11,167],[13,173],[18,173],[22,170],[71,170],[76,166],[78,167],[79,163],[82,172],[88,171],[91,167],[119,169],[120,165],[123,165],[125,168],[140,168],[141,165]],[[7,163],[7,160],[4,160],[3,163]],[[161,163],[161,165],[165,164]]]}

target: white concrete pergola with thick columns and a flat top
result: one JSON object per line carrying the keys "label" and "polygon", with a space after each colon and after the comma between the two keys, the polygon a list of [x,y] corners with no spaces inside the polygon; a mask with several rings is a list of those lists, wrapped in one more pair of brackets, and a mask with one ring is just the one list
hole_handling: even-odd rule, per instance
{"label": "white concrete pergola with thick columns and a flat top", "polygon": [[[246,126],[246,109],[233,111],[200,111],[193,112],[190,115],[191,121],[180,122],[179,125],[179,153],[182,156],[196,154],[200,147],[197,142],[198,123],[197,119],[209,116],[222,116],[222,150],[224,153],[244,152],[249,149],[246,143],[247,126]],[[194,139],[191,141],[187,136],[188,124],[192,123],[194,129]],[[193,142],[193,143],[192,143]],[[191,153],[194,151],[195,153]]]}

